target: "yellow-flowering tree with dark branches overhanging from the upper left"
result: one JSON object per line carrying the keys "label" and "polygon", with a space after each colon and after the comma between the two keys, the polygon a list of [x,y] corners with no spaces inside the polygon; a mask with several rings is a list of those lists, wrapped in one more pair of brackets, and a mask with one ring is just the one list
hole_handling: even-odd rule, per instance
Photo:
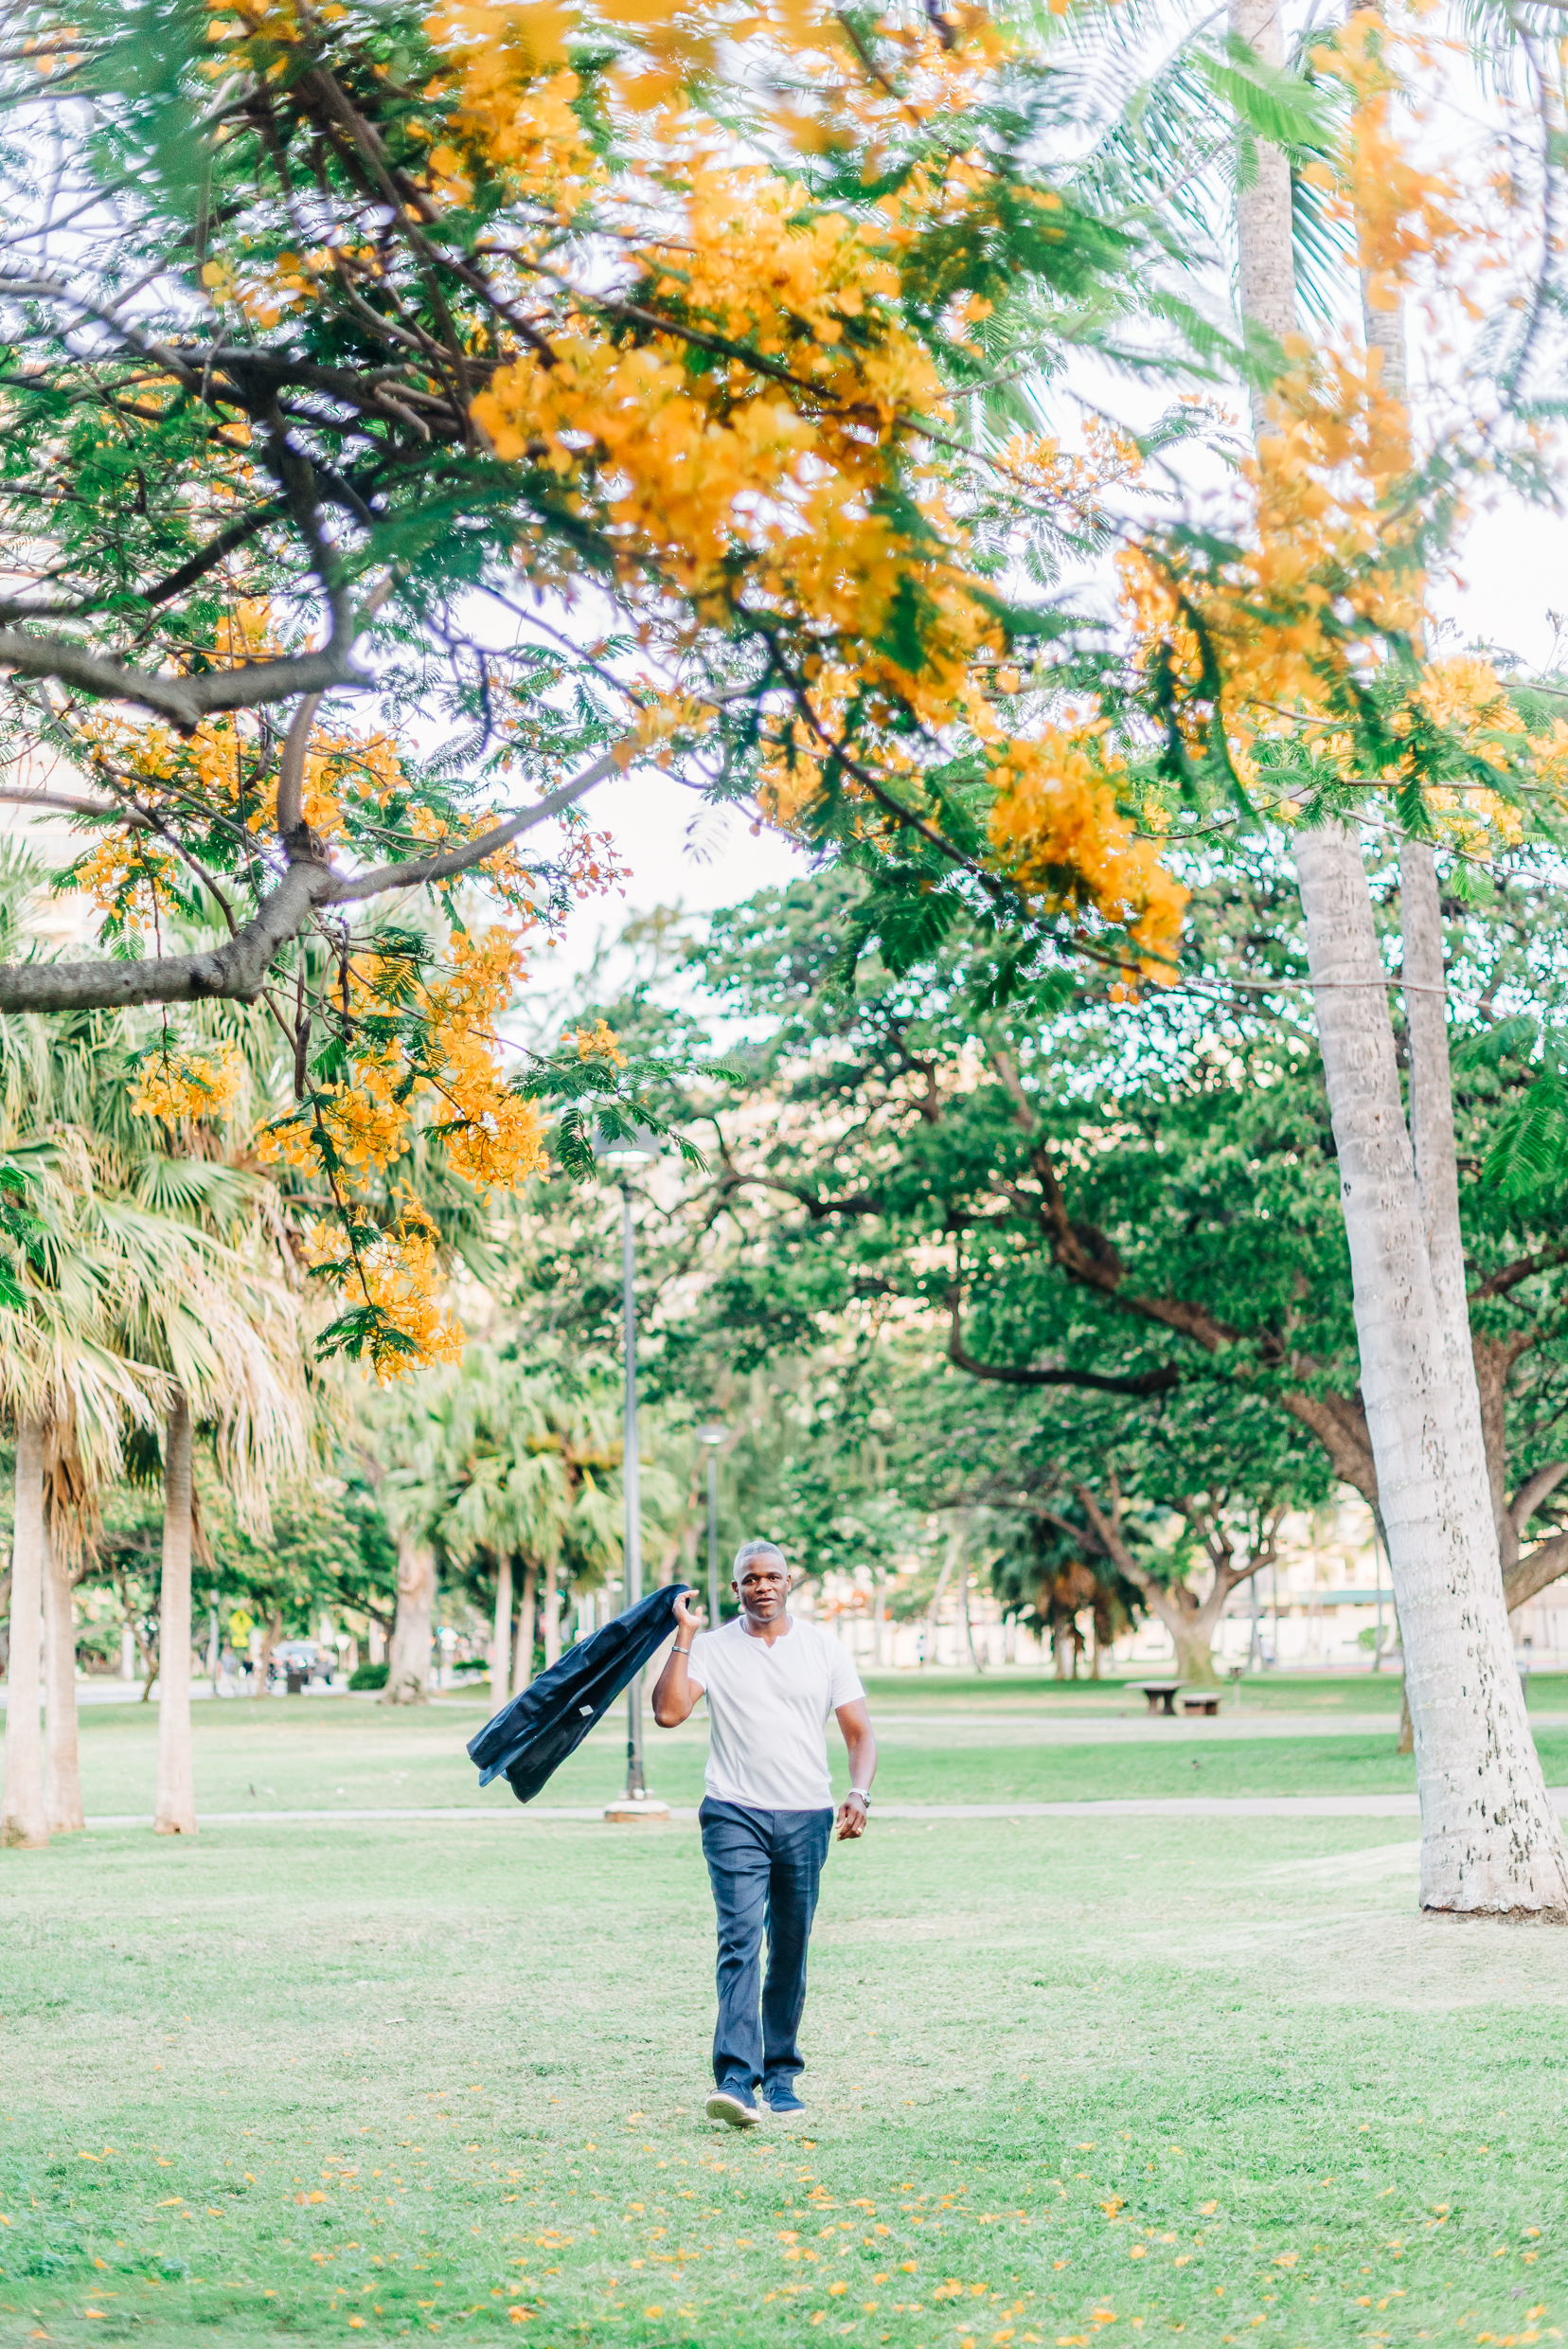
{"label": "yellow-flowering tree with dark branches overhanging from the upper left", "polygon": [[484,1191],[545,1099],[568,1160],[573,1104],[636,1106],[498,1029],[636,759],[869,860],[908,951],[979,902],[1169,965],[1160,841],[1047,719],[1038,552],[1127,451],[995,425],[1174,263],[1073,197],[1028,45],[817,0],[12,23],[0,787],[80,822],[108,951],[5,963],[0,1010],[162,1005],[134,1083],[178,1118],[228,1085],[178,1008],[263,1005],[343,1344],[453,1344],[413,1135]]}

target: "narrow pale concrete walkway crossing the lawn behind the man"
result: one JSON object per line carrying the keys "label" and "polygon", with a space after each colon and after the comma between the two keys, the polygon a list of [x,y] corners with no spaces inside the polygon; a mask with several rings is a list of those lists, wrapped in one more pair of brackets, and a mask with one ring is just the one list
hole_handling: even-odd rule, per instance
{"label": "narrow pale concrete walkway crossing the lawn behind the man", "polygon": [[[1549,1788],[1552,1804],[1568,1818],[1568,1785]],[[207,1828],[239,1828],[251,1820],[263,1825],[364,1825],[387,1818],[439,1818],[439,1820],[505,1820],[528,1825],[533,1820],[603,1820],[603,1804],[540,1804],[486,1806],[451,1804],[448,1809],[397,1811],[200,1811]],[[690,1828],[697,1811],[671,1806],[671,1825]],[[878,1823],[885,1818],[920,1820],[941,1828],[962,1818],[1005,1818],[1016,1825],[1026,1818],[1420,1818],[1415,1795],[1117,1795],[1106,1802],[878,1802]],[[89,1828],[150,1828],[153,1813],[113,1811],[87,1820]]]}

